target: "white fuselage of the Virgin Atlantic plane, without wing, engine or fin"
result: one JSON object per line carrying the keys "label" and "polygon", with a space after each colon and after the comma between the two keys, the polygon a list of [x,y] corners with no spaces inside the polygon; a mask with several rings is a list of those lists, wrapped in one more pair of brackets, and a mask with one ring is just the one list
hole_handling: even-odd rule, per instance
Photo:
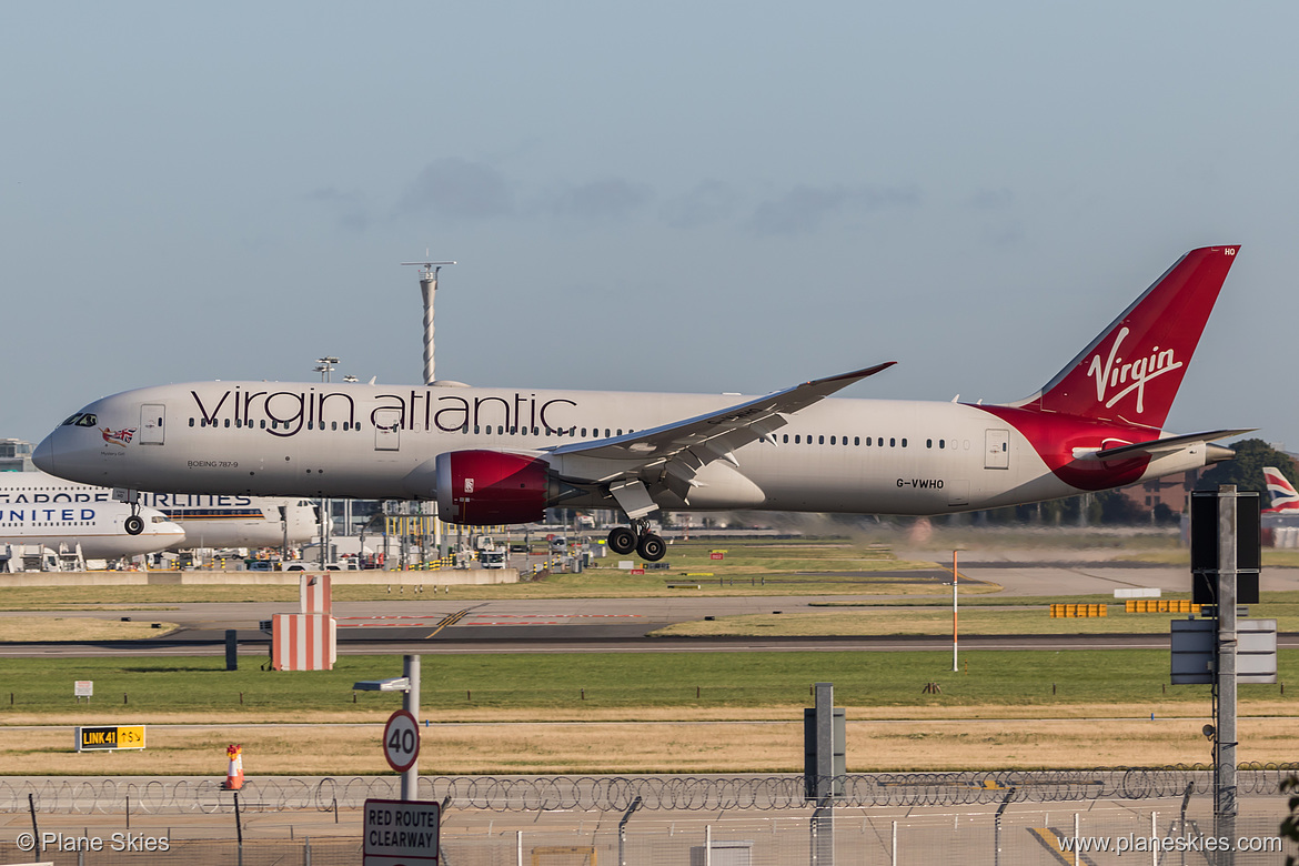
{"label": "white fuselage of the Virgin Atlantic plane, without wing, engine or fin", "polygon": [[[105,397],[40,448],[60,475],[113,487],[213,495],[433,499],[439,453],[538,454],[560,478],[592,478],[588,458],[548,447],[617,438],[701,415],[730,395],[512,391],[466,387],[213,382]],[[1012,412],[1013,410],[1007,410]],[[81,415],[78,415],[81,417]],[[1040,415],[1038,415],[1040,417]],[[1033,421],[1037,421],[1034,417]],[[1066,483],[1059,453],[1098,449],[1109,428],[1052,432],[1050,448],[995,414],[956,402],[829,399],[776,432],[703,467],[688,501],[668,509],[944,514],[1070,496],[1109,483]],[[114,439],[126,439],[126,443]],[[1042,451],[1039,451],[1042,448]],[[1061,449],[1065,449],[1061,452]],[[1048,466],[1047,460],[1053,465]],[[1069,460],[1069,458],[1065,458]],[[1203,466],[1203,448],[1143,460],[1128,478]],[[603,470],[601,470],[603,471]],[[1074,480],[1076,476],[1070,476]],[[572,505],[611,506],[587,493]]]}

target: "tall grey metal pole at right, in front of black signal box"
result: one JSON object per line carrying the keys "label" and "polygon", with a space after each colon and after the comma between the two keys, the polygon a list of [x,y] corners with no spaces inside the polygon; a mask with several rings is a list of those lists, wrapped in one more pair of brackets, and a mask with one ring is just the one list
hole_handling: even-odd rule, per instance
{"label": "tall grey metal pole at right, in front of black signal box", "polygon": [[[1217,691],[1218,726],[1213,762],[1215,791],[1213,814],[1217,836],[1235,839],[1235,599],[1237,599],[1237,495],[1235,484],[1218,487],[1218,635],[1217,635]],[[1220,863],[1230,866],[1235,852],[1224,853]]]}

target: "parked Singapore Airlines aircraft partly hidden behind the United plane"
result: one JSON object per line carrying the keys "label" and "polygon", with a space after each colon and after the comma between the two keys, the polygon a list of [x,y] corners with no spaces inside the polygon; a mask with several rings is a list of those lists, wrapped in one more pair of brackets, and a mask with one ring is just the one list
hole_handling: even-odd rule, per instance
{"label": "parked Singapore Airlines aircraft partly hidden behind the United plane", "polygon": [[[45,473],[0,473],[0,509],[8,505],[112,502],[107,487],[78,484]],[[140,493],[139,504],[160,510],[184,530],[169,549],[279,547],[310,541],[316,508],[303,500],[195,493]],[[130,517],[130,510],[126,512]],[[131,525],[134,527],[134,523]],[[127,528],[131,528],[127,527]]]}

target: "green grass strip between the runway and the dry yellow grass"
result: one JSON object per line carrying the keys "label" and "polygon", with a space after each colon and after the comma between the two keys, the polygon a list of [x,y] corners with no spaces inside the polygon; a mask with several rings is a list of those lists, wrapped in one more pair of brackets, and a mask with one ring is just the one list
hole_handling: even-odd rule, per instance
{"label": "green grass strip between the runway and the dry yellow grass", "polygon": [[[382,718],[400,706],[399,693],[362,692],[355,704],[352,693],[356,680],[397,675],[396,656],[343,657],[335,670],[316,673],[260,671],[240,661],[240,670],[226,671],[216,658],[0,660],[0,723],[6,715],[129,721],[247,713],[251,721],[274,721],[352,710]],[[965,650],[961,661],[965,670],[952,673],[946,652],[426,656],[421,705],[433,719],[483,708],[538,718],[559,709],[761,709],[803,706],[816,682],[833,682],[835,701],[850,706],[998,705],[1013,714],[1025,705],[1082,702],[1103,713],[1115,702],[1208,704],[1208,687],[1165,692],[1168,650]],[[1299,682],[1299,649],[1280,650],[1280,671],[1282,682]],[[95,682],[88,706],[73,699],[77,679]],[[922,693],[929,682],[939,683],[942,695]],[[1241,687],[1246,702],[1280,696],[1280,686]]]}

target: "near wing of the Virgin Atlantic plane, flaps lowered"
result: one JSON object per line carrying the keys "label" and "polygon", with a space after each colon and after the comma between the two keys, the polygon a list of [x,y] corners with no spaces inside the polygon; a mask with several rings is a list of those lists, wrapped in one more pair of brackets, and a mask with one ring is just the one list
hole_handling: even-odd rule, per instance
{"label": "near wing of the Virgin Atlantic plane, flaps lowered", "polygon": [[[714,460],[733,465],[733,452],[783,427],[794,414],[860,382],[895,361],[842,375],[813,379],[764,397],[625,436],[594,439],[548,449],[552,466],[573,484],[608,484],[627,513],[652,510],[643,476],[659,479],[685,496],[695,474]],[[657,470],[657,471],[656,471]],[[639,489],[633,489],[639,488]]]}

